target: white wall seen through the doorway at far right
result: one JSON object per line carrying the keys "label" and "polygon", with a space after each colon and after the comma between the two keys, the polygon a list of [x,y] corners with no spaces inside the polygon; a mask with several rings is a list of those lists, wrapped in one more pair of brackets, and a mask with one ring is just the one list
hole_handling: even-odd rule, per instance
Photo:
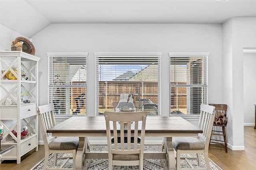
{"label": "white wall seen through the doorway at far right", "polygon": [[244,125],[255,125],[256,53],[244,53]]}

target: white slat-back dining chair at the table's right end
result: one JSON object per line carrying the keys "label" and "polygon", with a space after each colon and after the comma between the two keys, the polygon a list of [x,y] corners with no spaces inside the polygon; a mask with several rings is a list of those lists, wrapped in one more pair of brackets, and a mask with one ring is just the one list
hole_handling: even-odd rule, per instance
{"label": "white slat-back dining chair at the table's right end", "polygon": [[[176,170],[180,170],[180,159],[185,159],[192,169],[195,169],[188,160],[196,159],[198,160],[198,166],[201,166],[201,156],[200,153],[204,154],[204,159],[206,162],[206,169],[210,170],[210,163],[208,157],[208,147],[210,142],[210,137],[212,133],[213,121],[215,118],[215,107],[206,104],[201,104],[200,106],[200,118],[198,122],[198,127],[203,130],[203,133],[198,133],[198,137],[173,137],[172,145],[176,150]],[[184,153],[195,153],[196,158],[183,158],[181,154]],[[203,170],[200,168],[200,170]]]}

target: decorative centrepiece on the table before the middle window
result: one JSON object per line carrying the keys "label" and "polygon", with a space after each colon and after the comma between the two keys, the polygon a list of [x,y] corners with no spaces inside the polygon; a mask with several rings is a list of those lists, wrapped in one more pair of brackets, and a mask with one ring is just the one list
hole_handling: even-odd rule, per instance
{"label": "decorative centrepiece on the table before the middle window", "polygon": [[116,111],[136,111],[133,100],[134,98],[132,94],[121,94],[119,103],[116,106]]}

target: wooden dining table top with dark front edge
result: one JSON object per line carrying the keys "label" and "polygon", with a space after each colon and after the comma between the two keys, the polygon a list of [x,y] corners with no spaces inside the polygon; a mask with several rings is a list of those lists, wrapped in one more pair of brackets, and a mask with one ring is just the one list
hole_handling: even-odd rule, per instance
{"label": "wooden dining table top with dark front edge", "polygon": [[[48,133],[106,133],[104,116],[73,116],[47,130]],[[182,117],[148,116],[146,133],[202,133]]]}

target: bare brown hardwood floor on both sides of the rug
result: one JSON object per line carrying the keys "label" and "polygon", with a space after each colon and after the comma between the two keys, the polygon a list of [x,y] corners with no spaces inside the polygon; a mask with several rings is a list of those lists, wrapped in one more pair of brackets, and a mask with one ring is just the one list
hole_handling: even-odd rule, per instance
{"label": "bare brown hardwood floor on both sides of the rug", "polygon": [[[209,157],[222,170],[255,170],[256,167],[256,129],[253,126],[244,127],[245,150],[230,150],[225,152],[223,145],[211,144]],[[0,170],[30,170],[44,158],[44,146],[39,145],[38,152],[34,150],[22,156],[20,164],[16,161],[5,160],[0,164]]]}

